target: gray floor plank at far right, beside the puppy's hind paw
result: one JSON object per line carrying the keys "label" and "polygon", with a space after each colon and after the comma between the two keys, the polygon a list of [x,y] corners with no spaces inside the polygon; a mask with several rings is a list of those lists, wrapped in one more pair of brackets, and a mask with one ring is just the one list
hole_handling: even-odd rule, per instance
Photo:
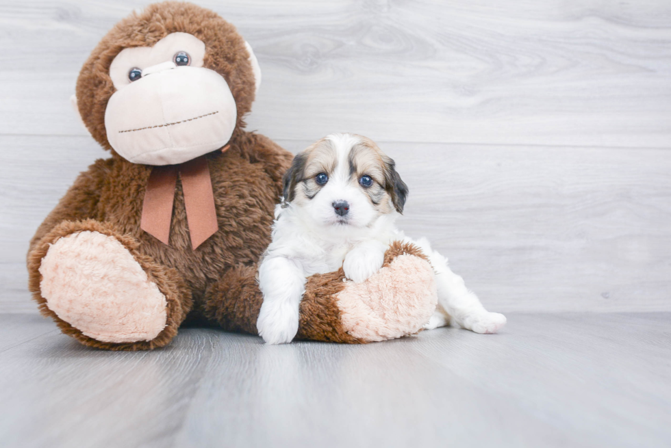
{"label": "gray floor plank at far right, beside the puppy's hind paw", "polygon": [[[587,445],[663,446],[671,443],[667,319],[511,315],[503,337],[457,332],[413,347],[461,380]],[[632,425],[640,427],[636,437]]]}

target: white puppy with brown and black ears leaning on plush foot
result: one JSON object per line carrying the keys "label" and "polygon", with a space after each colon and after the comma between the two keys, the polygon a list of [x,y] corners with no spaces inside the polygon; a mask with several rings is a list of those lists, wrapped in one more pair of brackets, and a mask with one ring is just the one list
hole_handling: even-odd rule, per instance
{"label": "white puppy with brown and black ears leaning on plush foot", "polygon": [[296,336],[309,276],[342,266],[346,278],[363,282],[380,269],[396,240],[421,248],[435,272],[438,307],[425,328],[453,321],[494,333],[505,325],[505,316],[488,313],[427,239],[414,241],[396,228],[408,189],[394,161],[368,138],[328,135],[296,155],[283,181],[273,241],[259,265],[264,301],[257,329],[266,343],[288,343]]}

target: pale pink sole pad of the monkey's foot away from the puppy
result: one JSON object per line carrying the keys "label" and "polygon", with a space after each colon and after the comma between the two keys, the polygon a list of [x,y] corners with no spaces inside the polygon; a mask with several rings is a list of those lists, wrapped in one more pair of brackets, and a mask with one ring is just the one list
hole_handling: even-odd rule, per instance
{"label": "pale pink sole pad of the monkey's foot away from the puppy", "polygon": [[51,245],[40,265],[47,306],[101,342],[151,341],[166,326],[166,298],[116,238],[74,233]]}

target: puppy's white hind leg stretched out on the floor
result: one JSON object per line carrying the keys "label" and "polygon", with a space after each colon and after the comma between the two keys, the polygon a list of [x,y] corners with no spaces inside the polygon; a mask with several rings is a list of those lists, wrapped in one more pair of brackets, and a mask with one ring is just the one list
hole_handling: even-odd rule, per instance
{"label": "puppy's white hind leg stretched out on the floor", "polygon": [[[435,282],[438,289],[438,309],[436,313],[444,311],[448,317],[444,323],[449,322],[449,317],[455,321],[461,328],[472,330],[476,333],[496,333],[503,328],[506,323],[505,316],[500,313],[490,313],[482,306],[477,295],[469,291],[464,284],[464,279],[452,272],[447,265],[447,259],[431,249],[431,244],[427,239],[421,238],[412,241],[422,249],[429,257],[429,262],[435,272]],[[443,308],[440,310],[440,308]],[[440,315],[434,315],[429,321],[429,326],[440,324]],[[436,328],[441,325],[435,325]]]}

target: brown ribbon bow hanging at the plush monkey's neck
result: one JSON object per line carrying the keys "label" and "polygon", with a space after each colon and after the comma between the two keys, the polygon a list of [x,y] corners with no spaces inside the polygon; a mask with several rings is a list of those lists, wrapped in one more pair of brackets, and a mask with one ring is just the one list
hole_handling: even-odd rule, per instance
{"label": "brown ribbon bow hanging at the plush monkey's neck", "polygon": [[[222,149],[227,150],[228,146]],[[164,244],[170,239],[173,202],[177,175],[184,192],[186,220],[189,224],[191,247],[196,250],[219,229],[214,208],[212,179],[207,158],[203,155],[179,165],[155,166],[149,175],[144,193],[140,228]]]}

